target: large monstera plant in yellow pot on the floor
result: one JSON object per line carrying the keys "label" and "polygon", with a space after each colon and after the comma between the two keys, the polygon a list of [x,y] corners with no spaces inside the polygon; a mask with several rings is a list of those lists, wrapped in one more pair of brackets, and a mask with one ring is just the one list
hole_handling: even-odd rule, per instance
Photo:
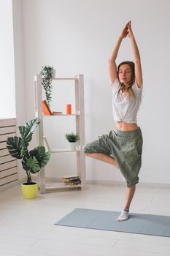
{"label": "large monstera plant in yellow pot on the floor", "polygon": [[[47,165],[50,159],[50,151],[45,151],[45,146],[37,146],[31,151],[28,151],[28,145],[32,139],[34,129],[38,127],[40,121],[35,118],[28,121],[24,126],[19,126],[21,137],[7,138],[7,149],[9,154],[16,159],[22,160],[23,169],[26,170],[27,182],[21,184],[23,195],[25,198],[31,199],[36,197],[38,184],[32,182],[31,173],[38,173],[42,167]],[[33,189],[34,191],[30,189]],[[25,194],[28,192],[28,195]]]}

